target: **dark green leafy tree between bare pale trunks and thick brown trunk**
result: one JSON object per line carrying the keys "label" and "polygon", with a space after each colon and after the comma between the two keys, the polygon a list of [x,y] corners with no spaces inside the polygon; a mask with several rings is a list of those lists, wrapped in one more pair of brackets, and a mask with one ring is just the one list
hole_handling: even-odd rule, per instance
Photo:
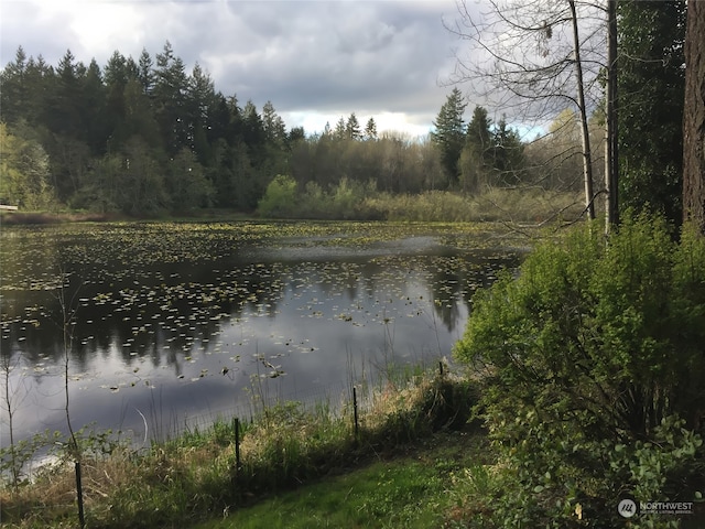
{"label": "dark green leafy tree between bare pale trunks and thick brown trunk", "polygon": [[618,3],[619,206],[682,218],[685,1]]}

